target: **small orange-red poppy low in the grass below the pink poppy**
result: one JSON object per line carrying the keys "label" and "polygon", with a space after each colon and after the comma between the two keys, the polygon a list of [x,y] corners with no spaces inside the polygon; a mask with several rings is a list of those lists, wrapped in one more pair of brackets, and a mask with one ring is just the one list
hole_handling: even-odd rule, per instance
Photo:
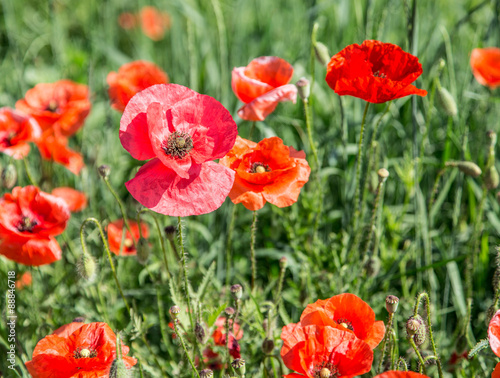
{"label": "small orange-red poppy low in the grass below the pink poppy", "polygon": [[[122,255],[135,255],[137,254],[137,250],[135,248],[134,242],[137,243],[137,241],[139,240],[139,225],[137,224],[137,222],[134,222],[132,220],[129,220],[128,224],[130,226],[130,230],[132,231],[133,235],[130,235],[130,232],[125,230],[125,239],[123,241]],[[123,229],[124,229],[123,219],[119,219],[108,224],[109,250],[113,252],[115,255],[120,254]],[[141,233],[143,238],[147,239],[149,237],[149,228],[146,223],[141,222]]]}

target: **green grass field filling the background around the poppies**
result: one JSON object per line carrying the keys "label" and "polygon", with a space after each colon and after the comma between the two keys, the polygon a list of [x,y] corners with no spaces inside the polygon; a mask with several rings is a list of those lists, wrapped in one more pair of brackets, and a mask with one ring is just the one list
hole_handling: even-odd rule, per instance
{"label": "green grass field filling the background around the poppies", "polygon": [[[98,278],[86,283],[76,273],[84,220],[93,217],[105,227],[122,218],[113,194],[98,174],[100,165],[110,167],[109,183],[124,203],[126,215],[135,219],[143,208],[124,185],[143,162],[134,160],[120,143],[121,113],[110,106],[106,82],[109,72],[139,59],[157,64],[171,83],[220,101],[233,115],[243,138],[258,142],[279,136],[285,145],[304,150],[312,168],[297,203],[285,208],[266,204],[257,212],[253,231],[253,212],[229,198],[210,214],[182,220],[180,242],[187,254],[190,306],[207,335],[213,332],[218,315],[227,306],[235,307],[229,287],[243,286],[238,322],[244,332],[239,345],[246,377],[290,374],[280,357],[281,328],[298,322],[308,304],[341,293],[359,296],[373,308],[376,319],[384,322],[388,318],[386,296],[398,296],[394,341],[385,361],[394,362],[401,356],[408,369],[419,371],[405,323],[414,313],[417,296],[424,292],[430,307],[422,301],[420,314],[426,318],[426,310],[430,311],[443,376],[491,375],[498,358],[487,342],[470,359],[451,364],[450,358],[487,339],[494,313],[491,307],[498,309],[500,293],[494,276],[500,267],[496,250],[499,197],[495,188],[487,189],[484,174],[474,178],[457,168],[443,169],[449,161],[471,161],[483,172],[490,163],[495,164],[495,160],[488,161],[496,147],[490,148],[487,131],[499,131],[500,92],[474,79],[469,60],[474,48],[500,47],[500,1],[1,0],[0,4],[0,106],[13,108],[36,84],[61,79],[88,85],[92,103],[84,126],[69,142],[84,158],[79,175],[43,160],[34,145],[26,159],[42,190],[50,193],[55,187],[73,187],[86,194],[88,206],[73,213],[57,237],[63,251],[60,261],[31,267],[0,257],[2,289],[7,290],[9,271],[17,275],[30,272],[33,279],[31,285],[16,291],[14,370],[8,368],[3,353],[10,344],[7,296],[0,301],[0,371],[6,377],[28,377],[24,363],[32,359],[37,342],[80,316],[86,322],[106,322],[115,333],[121,332],[124,344],[130,347],[128,355],[138,360],[132,376],[194,377],[179,339],[173,338],[168,326],[173,305],[182,309],[188,355],[195,357],[198,370],[206,368],[199,358],[203,345],[193,342],[185,312],[182,264],[163,233],[164,227],[177,226],[177,217],[141,213],[152,246],[145,265],[133,256],[113,255],[130,313],[94,225],[89,224],[83,236],[97,261]],[[170,27],[159,41],[145,36],[139,27],[124,30],[118,24],[122,12],[138,12],[146,5],[169,14]],[[313,34],[328,47],[330,56],[348,45],[376,39],[414,54],[423,68],[415,85],[427,90],[427,96],[406,96],[367,108],[361,151],[365,163],[360,175],[365,190],[360,194],[357,228],[356,162],[367,103],[338,96],[328,87],[326,67],[314,57]],[[242,103],[231,90],[231,71],[267,55],[293,65],[291,83],[301,77],[311,81],[309,106],[319,165],[313,160],[300,98],[296,104],[280,103],[265,121],[255,124],[255,130],[252,122],[237,116]],[[448,115],[441,106],[439,86],[454,98],[456,116]],[[0,154],[2,167],[11,162],[9,156]],[[22,160],[13,163],[18,173],[16,185],[29,185]],[[386,168],[389,177],[375,208],[380,168]],[[0,190],[2,195],[11,191]],[[254,290],[250,283],[252,236],[257,261]],[[178,238],[174,243],[180,248]],[[171,276],[165,269],[163,244]],[[287,263],[282,269],[283,257]],[[282,294],[278,294],[281,285]],[[427,338],[429,327],[427,324]],[[274,341],[267,353],[262,350],[266,337]],[[212,345],[213,340],[208,339],[207,345]],[[212,347],[224,361],[229,358],[224,346]],[[364,377],[379,373],[382,349],[379,345],[373,351],[371,372]],[[419,351],[423,358],[435,355],[428,340]],[[432,358],[425,368],[429,377],[440,376]],[[215,377],[229,373],[236,375],[223,366],[214,370]]]}

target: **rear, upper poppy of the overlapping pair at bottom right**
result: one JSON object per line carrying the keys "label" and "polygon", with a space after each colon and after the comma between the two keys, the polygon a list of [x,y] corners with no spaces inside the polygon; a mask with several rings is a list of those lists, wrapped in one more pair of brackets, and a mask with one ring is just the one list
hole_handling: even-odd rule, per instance
{"label": "rear, upper poppy of the overlapping pair at bottom right", "polygon": [[385,325],[375,321],[375,312],[354,294],[340,294],[309,304],[300,316],[302,326],[330,326],[353,333],[372,349],[384,338]]}

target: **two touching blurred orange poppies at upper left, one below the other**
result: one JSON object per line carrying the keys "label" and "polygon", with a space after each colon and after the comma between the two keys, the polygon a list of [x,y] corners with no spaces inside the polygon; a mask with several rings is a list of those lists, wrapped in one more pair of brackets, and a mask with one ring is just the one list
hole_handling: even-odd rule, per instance
{"label": "two touching blurred orange poppies at upper left, one below the other", "polygon": [[16,109],[32,116],[41,127],[35,143],[42,158],[62,164],[74,174],[84,163],[83,157],[68,147],[68,138],[83,126],[90,108],[87,86],[70,80],[37,84],[16,102]]}

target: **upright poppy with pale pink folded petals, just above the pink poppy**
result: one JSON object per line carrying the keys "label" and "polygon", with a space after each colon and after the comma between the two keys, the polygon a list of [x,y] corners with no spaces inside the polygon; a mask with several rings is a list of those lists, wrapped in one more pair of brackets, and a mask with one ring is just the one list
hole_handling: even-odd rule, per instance
{"label": "upright poppy with pale pink folded petals, just above the pink poppy", "polygon": [[276,56],[261,56],[246,67],[233,68],[233,92],[246,104],[238,110],[240,118],[263,121],[276,109],[278,102],[295,104],[297,87],[288,84],[292,76],[292,65]]}

